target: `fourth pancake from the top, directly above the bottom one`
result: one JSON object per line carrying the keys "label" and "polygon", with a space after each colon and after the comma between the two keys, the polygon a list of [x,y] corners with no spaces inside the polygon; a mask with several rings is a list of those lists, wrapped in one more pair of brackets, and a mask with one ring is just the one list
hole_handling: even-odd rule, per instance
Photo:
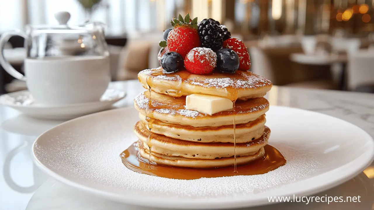
{"label": "fourth pancake from the top, directly above the bottom one", "polygon": [[[163,135],[153,134],[145,127],[145,123],[138,121],[134,126],[137,137],[144,142],[144,147],[151,145],[152,152],[167,156],[180,156],[191,159],[214,159],[232,157],[234,155],[233,143],[198,143],[173,139]],[[151,135],[151,136],[150,136]],[[147,138],[150,136],[148,142]],[[237,143],[236,155],[246,156],[255,154],[263,148],[269,139],[270,129],[265,127],[264,135],[249,143]]]}

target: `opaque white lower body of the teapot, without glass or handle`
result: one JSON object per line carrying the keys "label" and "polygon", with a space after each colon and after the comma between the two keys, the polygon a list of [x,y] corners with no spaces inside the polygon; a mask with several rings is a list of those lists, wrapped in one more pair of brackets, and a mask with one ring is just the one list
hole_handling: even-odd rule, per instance
{"label": "opaque white lower body of the teapot, without glass or handle", "polygon": [[66,56],[25,59],[28,90],[40,104],[98,101],[110,82],[109,58]]}

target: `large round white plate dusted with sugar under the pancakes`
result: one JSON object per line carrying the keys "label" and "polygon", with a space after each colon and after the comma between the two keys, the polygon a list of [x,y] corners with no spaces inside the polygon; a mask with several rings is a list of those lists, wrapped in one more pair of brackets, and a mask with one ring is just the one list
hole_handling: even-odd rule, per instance
{"label": "large round white plate dusted with sugar under the pancakes", "polygon": [[132,172],[119,154],[137,140],[134,108],[80,117],[42,134],[37,166],[76,188],[123,203],[171,209],[223,209],[269,204],[269,196],[305,196],[343,183],[373,161],[373,139],[346,121],[271,106],[269,143],[287,163],[265,175],[175,180]]}

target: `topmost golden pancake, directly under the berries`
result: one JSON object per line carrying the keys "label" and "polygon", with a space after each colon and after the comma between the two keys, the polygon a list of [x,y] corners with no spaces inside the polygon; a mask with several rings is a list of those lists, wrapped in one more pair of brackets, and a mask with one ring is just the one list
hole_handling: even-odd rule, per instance
{"label": "topmost golden pancake, directly under the berries", "polygon": [[162,70],[162,67],[143,70],[139,72],[138,79],[144,88],[149,89],[149,84],[154,92],[169,96],[202,93],[226,97],[232,101],[237,98],[243,100],[263,97],[273,85],[270,80],[250,71],[198,75],[186,70],[164,74]]}

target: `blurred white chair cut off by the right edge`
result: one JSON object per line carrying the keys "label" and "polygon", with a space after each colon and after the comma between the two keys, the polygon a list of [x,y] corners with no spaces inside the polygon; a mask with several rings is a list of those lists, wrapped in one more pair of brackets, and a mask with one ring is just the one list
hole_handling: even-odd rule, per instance
{"label": "blurred white chair cut off by the right edge", "polygon": [[347,86],[355,90],[358,86],[374,84],[374,53],[359,50],[349,53],[347,66]]}

